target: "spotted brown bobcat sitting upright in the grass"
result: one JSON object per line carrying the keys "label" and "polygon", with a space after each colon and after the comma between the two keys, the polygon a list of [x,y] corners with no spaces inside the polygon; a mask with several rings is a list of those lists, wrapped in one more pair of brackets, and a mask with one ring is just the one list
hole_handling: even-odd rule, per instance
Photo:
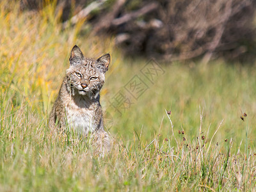
{"label": "spotted brown bobcat sitting upright in the grass", "polygon": [[98,148],[109,150],[110,138],[103,127],[99,92],[105,81],[110,55],[105,54],[97,60],[84,58],[75,45],[69,63],[70,67],[51,111],[49,127],[54,128],[58,124],[61,129],[70,126],[84,136],[90,133]]}

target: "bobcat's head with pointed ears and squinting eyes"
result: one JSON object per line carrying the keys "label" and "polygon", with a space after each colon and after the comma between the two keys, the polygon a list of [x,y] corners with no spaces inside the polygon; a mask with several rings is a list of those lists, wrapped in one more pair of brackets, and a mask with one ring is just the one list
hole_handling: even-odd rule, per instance
{"label": "bobcat's head with pointed ears and squinting eyes", "polygon": [[105,81],[110,55],[104,54],[97,60],[84,58],[83,52],[75,45],[71,51],[70,67],[67,69],[68,90],[72,95],[88,95],[96,98]]}

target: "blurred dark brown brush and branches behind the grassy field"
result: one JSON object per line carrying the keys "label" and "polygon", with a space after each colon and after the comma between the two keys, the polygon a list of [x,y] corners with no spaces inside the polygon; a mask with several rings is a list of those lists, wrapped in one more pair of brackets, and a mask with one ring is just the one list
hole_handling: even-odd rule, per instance
{"label": "blurred dark brown brush and branches behind the grassy field", "polygon": [[[21,0],[38,12],[52,1]],[[256,1],[250,0],[59,0],[63,28],[84,20],[90,31],[111,36],[128,56],[164,61],[211,59],[252,62]],[[57,13],[56,13],[57,14]],[[86,28],[86,29],[85,29]]]}

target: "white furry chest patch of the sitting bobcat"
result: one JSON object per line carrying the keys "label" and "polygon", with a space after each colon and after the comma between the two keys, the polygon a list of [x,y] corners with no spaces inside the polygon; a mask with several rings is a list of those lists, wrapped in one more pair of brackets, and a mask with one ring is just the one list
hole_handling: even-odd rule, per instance
{"label": "white furry chest patch of the sitting bobcat", "polygon": [[97,129],[95,111],[90,108],[79,108],[74,104],[65,107],[68,125],[79,134],[88,134]]}

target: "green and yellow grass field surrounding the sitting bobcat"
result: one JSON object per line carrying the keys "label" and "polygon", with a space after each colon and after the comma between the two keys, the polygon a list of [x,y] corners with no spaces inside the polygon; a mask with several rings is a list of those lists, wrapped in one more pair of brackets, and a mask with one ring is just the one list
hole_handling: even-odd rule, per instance
{"label": "green and yellow grass field surrounding the sitting bobcat", "polygon": [[[151,82],[141,70],[152,61],[124,58],[113,40],[91,35],[89,24],[62,30],[54,6],[22,13],[6,2],[0,4],[0,191],[255,189],[253,63],[161,63]],[[101,103],[116,148],[105,157],[94,156],[89,141],[47,127],[74,44],[93,58],[111,53]],[[134,76],[147,84],[141,95],[132,90]],[[119,93],[122,116],[111,104]]]}

